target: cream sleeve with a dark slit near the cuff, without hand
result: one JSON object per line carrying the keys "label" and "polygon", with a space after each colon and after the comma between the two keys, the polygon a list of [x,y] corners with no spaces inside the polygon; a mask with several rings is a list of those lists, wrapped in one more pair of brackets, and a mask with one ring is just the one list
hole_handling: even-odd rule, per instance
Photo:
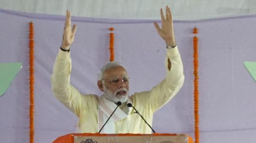
{"label": "cream sleeve with a dark slit near the cuff, without hand", "polygon": [[[168,69],[168,59],[171,61],[171,69]],[[178,47],[167,49],[165,57],[166,77],[152,90],[135,93],[135,103],[149,107],[154,113],[180,90],[184,82],[183,65],[178,52]]]}

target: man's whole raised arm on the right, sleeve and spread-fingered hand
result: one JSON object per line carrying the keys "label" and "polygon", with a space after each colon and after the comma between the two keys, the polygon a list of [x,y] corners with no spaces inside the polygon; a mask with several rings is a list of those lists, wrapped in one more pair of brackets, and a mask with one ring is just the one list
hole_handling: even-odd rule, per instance
{"label": "man's whole raised arm on the right, sleeve and spread-fingered hand", "polygon": [[153,112],[171,100],[178,93],[184,82],[183,65],[175,42],[173,21],[168,6],[166,6],[166,17],[164,17],[161,8],[161,19],[162,29],[160,29],[156,22],[154,22],[154,26],[159,36],[165,40],[166,45],[171,47],[166,50],[166,77],[152,90],[139,93],[138,95],[135,94],[135,98],[138,98],[135,101],[142,102],[138,105],[151,107]]}

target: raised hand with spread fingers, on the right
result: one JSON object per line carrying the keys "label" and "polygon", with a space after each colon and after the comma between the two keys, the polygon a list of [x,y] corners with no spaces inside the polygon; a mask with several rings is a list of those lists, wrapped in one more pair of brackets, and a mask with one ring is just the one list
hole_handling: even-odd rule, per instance
{"label": "raised hand with spread fingers, on the right", "polygon": [[171,16],[171,10],[168,6],[166,6],[166,14],[165,17],[163,15],[163,9],[161,8],[160,10],[161,13],[161,20],[162,20],[162,29],[160,29],[159,25],[154,22],[154,26],[156,27],[156,30],[165,40],[167,46],[175,46],[176,41],[174,37],[174,27],[173,27],[173,21],[172,21],[172,16]]}

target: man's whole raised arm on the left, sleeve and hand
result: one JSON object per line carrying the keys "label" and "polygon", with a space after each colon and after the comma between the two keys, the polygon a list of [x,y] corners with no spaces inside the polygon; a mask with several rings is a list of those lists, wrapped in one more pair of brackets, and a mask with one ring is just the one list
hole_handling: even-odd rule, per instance
{"label": "man's whole raised arm on the left, sleeve and hand", "polygon": [[51,76],[51,82],[54,96],[68,109],[79,116],[81,95],[79,91],[69,83],[71,73],[71,59],[70,52],[68,50],[71,44],[74,42],[75,33],[76,25],[74,25],[71,29],[71,15],[70,12],[67,11],[63,41],[61,44],[62,50],[59,50],[59,54],[56,57],[53,73]]}

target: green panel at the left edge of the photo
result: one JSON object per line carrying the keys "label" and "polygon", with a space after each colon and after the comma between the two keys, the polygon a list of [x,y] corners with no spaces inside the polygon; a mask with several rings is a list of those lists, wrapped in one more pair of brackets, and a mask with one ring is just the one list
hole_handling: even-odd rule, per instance
{"label": "green panel at the left edge of the photo", "polygon": [[0,63],[0,97],[4,95],[21,68],[22,63]]}

